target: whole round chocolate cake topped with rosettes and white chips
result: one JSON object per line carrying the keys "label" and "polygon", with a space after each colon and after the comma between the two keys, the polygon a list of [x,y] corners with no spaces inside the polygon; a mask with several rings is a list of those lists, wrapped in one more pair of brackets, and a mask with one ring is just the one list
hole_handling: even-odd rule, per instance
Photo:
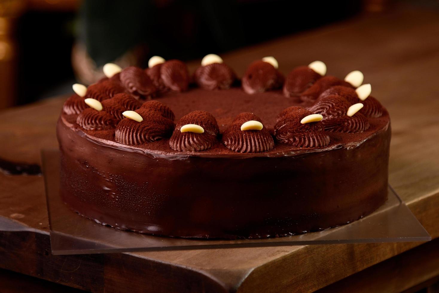
{"label": "whole round chocolate cake topped with rosettes and white chips", "polygon": [[161,236],[290,236],[355,221],[387,199],[390,119],[360,71],[286,77],[265,57],[241,80],[213,54],[106,64],[57,125],[61,197],[103,225]]}

